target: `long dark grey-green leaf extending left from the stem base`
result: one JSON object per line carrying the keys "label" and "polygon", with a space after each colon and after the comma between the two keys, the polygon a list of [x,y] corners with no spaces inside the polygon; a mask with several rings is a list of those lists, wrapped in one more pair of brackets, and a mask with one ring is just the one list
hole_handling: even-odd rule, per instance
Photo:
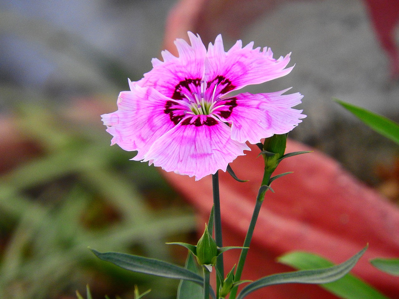
{"label": "long dark grey-green leaf extending left from the stem base", "polygon": [[153,258],[144,258],[142,256],[123,254],[118,252],[100,253],[93,249],[91,249],[91,251],[100,260],[111,262],[129,271],[146,273],[150,275],[168,277],[173,279],[186,279],[194,281],[199,285],[203,285],[203,278],[198,274],[188,269],[184,269],[182,267],[169,264],[164,261],[156,260]]}

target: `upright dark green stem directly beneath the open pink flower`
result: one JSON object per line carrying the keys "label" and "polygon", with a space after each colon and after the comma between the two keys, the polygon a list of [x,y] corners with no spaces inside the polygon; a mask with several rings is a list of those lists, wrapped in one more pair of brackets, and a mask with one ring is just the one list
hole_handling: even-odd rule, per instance
{"label": "upright dark green stem directly beneath the open pink flower", "polygon": [[[220,197],[219,197],[219,171],[216,171],[214,175],[212,175],[212,190],[213,190],[213,205],[215,207],[214,217],[215,217],[215,241],[216,246],[219,248],[223,247],[222,240],[222,224],[221,224],[221,216],[220,216]],[[224,277],[223,270],[223,254],[220,254],[217,257],[216,267],[219,270],[219,273]]]}

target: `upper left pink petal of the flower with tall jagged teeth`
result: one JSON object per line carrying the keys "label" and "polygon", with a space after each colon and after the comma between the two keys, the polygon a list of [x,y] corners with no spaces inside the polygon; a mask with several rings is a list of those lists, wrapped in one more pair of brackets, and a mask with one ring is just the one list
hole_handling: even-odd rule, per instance
{"label": "upper left pink petal of the flower with tall jagged teeth", "polygon": [[187,79],[200,81],[204,75],[206,49],[199,35],[188,32],[188,36],[191,46],[184,39],[176,39],[179,57],[175,57],[169,51],[162,51],[164,61],[152,59],[154,68],[144,74],[144,78],[136,84],[153,87],[164,96],[176,98],[176,92],[180,95],[180,83],[185,85]]}

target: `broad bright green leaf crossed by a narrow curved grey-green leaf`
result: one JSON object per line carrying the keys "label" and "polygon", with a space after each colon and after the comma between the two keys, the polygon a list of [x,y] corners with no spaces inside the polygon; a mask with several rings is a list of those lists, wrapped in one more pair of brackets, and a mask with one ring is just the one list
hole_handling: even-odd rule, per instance
{"label": "broad bright green leaf crossed by a narrow curved grey-green leaf", "polygon": [[[334,264],[316,254],[292,252],[279,258],[282,264],[300,270],[326,268]],[[343,299],[388,299],[379,291],[348,273],[341,279],[320,285],[322,288]]]}

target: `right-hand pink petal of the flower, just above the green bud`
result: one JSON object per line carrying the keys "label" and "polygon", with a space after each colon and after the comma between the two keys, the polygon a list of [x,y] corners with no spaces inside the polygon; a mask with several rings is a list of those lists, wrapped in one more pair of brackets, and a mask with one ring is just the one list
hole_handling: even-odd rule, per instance
{"label": "right-hand pink petal of the flower, just above the green bud", "polygon": [[286,90],[271,93],[248,92],[223,99],[213,113],[224,122],[231,123],[231,139],[251,144],[273,134],[285,134],[296,127],[306,115],[292,109],[301,102],[302,94],[283,94]]}

